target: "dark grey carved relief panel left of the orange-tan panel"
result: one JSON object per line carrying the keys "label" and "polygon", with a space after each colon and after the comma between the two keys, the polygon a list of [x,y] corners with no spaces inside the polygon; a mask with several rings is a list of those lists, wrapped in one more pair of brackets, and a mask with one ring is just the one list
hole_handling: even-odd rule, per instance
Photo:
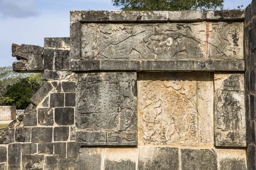
{"label": "dark grey carved relief panel left of the orange-tan panel", "polygon": [[78,75],[78,142],[85,145],[137,144],[136,80],[136,73]]}

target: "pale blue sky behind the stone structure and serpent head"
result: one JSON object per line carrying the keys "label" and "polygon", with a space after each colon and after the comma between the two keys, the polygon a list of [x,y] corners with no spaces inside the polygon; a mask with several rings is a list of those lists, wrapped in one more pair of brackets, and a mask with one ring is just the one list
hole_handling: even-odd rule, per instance
{"label": "pale blue sky behind the stone structure and serpent head", "polygon": [[[224,0],[225,9],[251,0]],[[44,46],[44,37],[69,37],[73,10],[119,10],[111,0],[0,0],[0,67],[17,61],[12,43]]]}

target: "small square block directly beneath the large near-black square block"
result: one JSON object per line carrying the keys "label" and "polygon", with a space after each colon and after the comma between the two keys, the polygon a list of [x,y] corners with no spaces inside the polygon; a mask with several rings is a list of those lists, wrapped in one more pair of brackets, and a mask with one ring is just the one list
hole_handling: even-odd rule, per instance
{"label": "small square block directly beneath the large near-black square block", "polygon": [[54,141],[67,141],[69,137],[69,127],[68,126],[58,126],[53,129],[53,139]]}

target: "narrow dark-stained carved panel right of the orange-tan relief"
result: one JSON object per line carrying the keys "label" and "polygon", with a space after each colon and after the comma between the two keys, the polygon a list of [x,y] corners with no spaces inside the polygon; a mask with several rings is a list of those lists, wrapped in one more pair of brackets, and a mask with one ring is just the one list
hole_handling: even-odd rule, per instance
{"label": "narrow dark-stained carved panel right of the orange-tan relief", "polygon": [[244,74],[215,74],[215,145],[246,146]]}

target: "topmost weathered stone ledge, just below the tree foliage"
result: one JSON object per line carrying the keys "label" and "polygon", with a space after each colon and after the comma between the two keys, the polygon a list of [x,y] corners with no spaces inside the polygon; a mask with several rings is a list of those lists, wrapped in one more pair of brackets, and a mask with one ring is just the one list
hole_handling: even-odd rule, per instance
{"label": "topmost weathered stone ledge, just below the tree foliage", "polygon": [[244,20],[244,10],[70,11],[71,22],[185,22],[207,20]]}

